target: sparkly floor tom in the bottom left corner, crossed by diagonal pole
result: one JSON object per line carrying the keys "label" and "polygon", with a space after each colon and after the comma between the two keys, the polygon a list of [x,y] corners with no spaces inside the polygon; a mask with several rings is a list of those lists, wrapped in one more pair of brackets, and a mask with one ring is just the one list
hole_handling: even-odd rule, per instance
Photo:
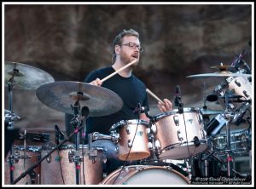
{"label": "sparkly floor tom in the bottom left corner, crossed by diagonal pole", "polygon": [[[14,179],[17,179],[22,173],[29,169],[34,163],[37,163],[41,158],[41,146],[14,146]],[[9,153],[4,162],[4,183],[10,184],[10,167],[9,167]],[[31,174],[27,174],[24,178],[18,181],[17,185],[31,185],[40,184],[40,169],[41,166],[33,169]]]}

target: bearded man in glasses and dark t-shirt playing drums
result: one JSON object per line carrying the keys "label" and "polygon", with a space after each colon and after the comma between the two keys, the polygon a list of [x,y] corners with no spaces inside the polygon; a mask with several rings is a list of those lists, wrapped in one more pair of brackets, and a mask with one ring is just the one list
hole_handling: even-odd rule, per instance
{"label": "bearded man in glasses and dark t-shirt playing drums", "polygon": [[[113,65],[90,72],[84,79],[85,83],[102,86],[119,94],[119,97],[124,103],[119,112],[102,117],[88,117],[86,123],[87,135],[93,132],[110,135],[109,129],[111,126],[121,120],[143,119],[149,121],[145,112],[141,112],[139,115],[138,113],[135,113],[137,106],[143,106],[149,110],[145,84],[132,74],[132,70],[138,65],[142,53],[143,48],[139,40],[139,33],[132,29],[123,30],[113,40]],[[116,72],[134,60],[137,60],[134,64],[128,66],[102,83],[102,78]],[[158,107],[161,112],[171,111],[172,102],[164,99],[161,102],[159,101]],[[70,128],[67,128],[67,130],[70,130]],[[108,149],[108,161],[106,163],[107,174],[113,172],[124,164],[123,161],[118,159],[118,154],[115,152],[116,146],[113,145],[112,141],[96,140],[95,142],[97,145],[105,146]]]}

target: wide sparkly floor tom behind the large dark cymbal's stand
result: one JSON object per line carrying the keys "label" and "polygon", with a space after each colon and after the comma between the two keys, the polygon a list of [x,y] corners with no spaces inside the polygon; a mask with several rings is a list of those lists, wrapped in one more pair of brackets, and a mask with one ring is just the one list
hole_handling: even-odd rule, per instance
{"label": "wide sparkly floor tom behind the large dark cymbal's stand", "polygon": [[[52,150],[52,146],[43,146],[42,158]],[[84,150],[84,161],[82,158]],[[76,184],[76,169],[73,158],[81,158],[79,167],[79,183],[96,185],[103,180],[103,153],[102,147],[93,146],[89,152],[88,146],[79,146],[79,152],[75,152],[74,145],[61,146],[61,150],[55,150],[49,158],[44,159],[41,166],[41,183],[50,185],[74,185]]]}

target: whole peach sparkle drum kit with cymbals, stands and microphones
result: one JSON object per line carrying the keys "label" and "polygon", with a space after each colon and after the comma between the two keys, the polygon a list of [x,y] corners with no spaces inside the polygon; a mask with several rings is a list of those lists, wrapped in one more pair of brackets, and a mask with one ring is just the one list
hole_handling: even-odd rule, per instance
{"label": "whole peach sparkle drum kit with cymbals, stands and microphones", "polygon": [[[234,169],[232,158],[251,150],[252,141],[247,133],[250,129],[231,132],[230,124],[241,123],[241,119],[244,120],[245,113],[251,108],[251,73],[242,68],[237,72],[230,72],[230,66],[222,64],[214,68],[218,68],[219,72],[189,77],[224,78],[224,83],[218,85],[211,94],[214,100],[217,97],[216,100],[224,110],[183,107],[179,103],[178,109],[155,116],[148,115],[146,111],[149,123],[140,119],[121,120],[109,129],[110,135],[92,133],[88,135],[88,145],[80,145],[80,133],[85,138],[86,118],[118,112],[123,106],[119,95],[89,83],[55,82],[47,72],[38,68],[6,61],[4,81],[9,89],[9,110],[4,111],[7,123],[5,130],[14,129],[15,122],[20,119],[12,107],[12,90],[15,88],[36,90],[38,100],[45,105],[59,112],[73,114],[71,123],[75,131],[66,139],[63,137],[60,142],[61,131],[55,127],[55,139],[58,139],[55,140],[55,145],[49,142],[47,134],[25,131],[20,136],[24,145],[15,144],[7,149],[5,183],[188,185],[193,184],[196,177],[244,176]],[[139,111],[143,110],[141,107]],[[204,119],[209,116],[216,117],[206,122]],[[251,116],[248,116],[249,125],[250,119]],[[226,132],[221,133],[224,126]],[[75,145],[68,143],[73,135]],[[43,145],[27,146],[26,142],[29,140],[39,141]],[[119,160],[129,161],[131,164],[124,164],[111,174],[104,175],[103,164],[107,161],[108,149],[93,146],[92,142],[96,140],[113,142]],[[19,161],[20,159],[24,161]],[[215,163],[215,169],[213,165],[209,169],[210,163]],[[219,163],[225,168],[224,175],[219,173]]]}

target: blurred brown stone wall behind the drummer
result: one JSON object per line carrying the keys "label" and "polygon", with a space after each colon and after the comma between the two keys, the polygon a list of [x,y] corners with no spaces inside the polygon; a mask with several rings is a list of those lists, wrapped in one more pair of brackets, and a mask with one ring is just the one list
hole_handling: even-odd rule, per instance
{"label": "blurred brown stone wall behind the drummer", "polygon": [[[92,70],[110,66],[113,38],[123,29],[141,34],[145,51],[134,74],[161,99],[182,91],[185,107],[204,105],[223,77],[187,78],[221,62],[230,65],[246,50],[251,65],[252,6],[236,5],[5,5],[4,61],[38,67],[55,81],[83,81]],[[204,84],[205,83],[205,91]],[[14,89],[15,127],[52,132],[63,130],[64,113],[38,100],[36,91]],[[151,114],[158,113],[149,98]],[[4,88],[4,109],[8,109]],[[222,109],[207,102],[210,109]]]}

